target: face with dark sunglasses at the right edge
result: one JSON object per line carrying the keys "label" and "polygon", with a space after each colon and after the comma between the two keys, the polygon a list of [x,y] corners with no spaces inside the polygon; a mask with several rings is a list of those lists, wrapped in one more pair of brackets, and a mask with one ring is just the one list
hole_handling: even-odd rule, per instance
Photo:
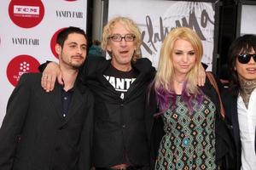
{"label": "face with dark sunglasses at the right edge", "polygon": [[251,50],[249,53],[247,53],[247,54],[254,54],[255,57],[250,55],[245,55],[245,54],[246,53],[241,53],[242,57],[241,56],[236,57],[235,70],[237,71],[238,77],[241,77],[245,80],[255,80],[256,79],[256,61],[254,60],[256,59],[255,51]]}

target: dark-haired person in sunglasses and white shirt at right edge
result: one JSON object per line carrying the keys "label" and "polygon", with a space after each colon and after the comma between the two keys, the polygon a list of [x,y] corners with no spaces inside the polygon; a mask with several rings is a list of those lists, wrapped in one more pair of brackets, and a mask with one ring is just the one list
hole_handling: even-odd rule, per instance
{"label": "dark-haired person in sunglasses and white shirt at right edge", "polygon": [[236,169],[256,167],[256,35],[245,34],[231,43],[230,88],[224,101],[226,119],[236,144]]}

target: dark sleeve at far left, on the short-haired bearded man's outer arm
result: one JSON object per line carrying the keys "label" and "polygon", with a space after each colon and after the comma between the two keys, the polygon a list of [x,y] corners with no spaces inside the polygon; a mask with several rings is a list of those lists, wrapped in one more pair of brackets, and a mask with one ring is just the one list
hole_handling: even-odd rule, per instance
{"label": "dark sleeve at far left, on the short-haired bearded man's outer arm", "polygon": [[9,98],[6,115],[0,129],[1,170],[11,170],[13,167],[15,150],[20,141],[20,133],[29,108],[30,84],[27,74],[23,74]]}

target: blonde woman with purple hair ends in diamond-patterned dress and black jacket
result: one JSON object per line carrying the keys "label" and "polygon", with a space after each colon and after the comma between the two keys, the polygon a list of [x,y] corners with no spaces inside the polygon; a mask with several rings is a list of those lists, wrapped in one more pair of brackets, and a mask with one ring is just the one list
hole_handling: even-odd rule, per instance
{"label": "blonde woman with purple hair ends in diamond-patterned dress and black jacket", "polygon": [[231,142],[218,94],[208,80],[202,88],[196,85],[202,54],[200,37],[186,27],[173,29],[162,44],[152,83],[159,107],[155,122],[161,117],[164,125],[163,137],[154,139],[155,169],[230,168],[224,157],[229,157]]}

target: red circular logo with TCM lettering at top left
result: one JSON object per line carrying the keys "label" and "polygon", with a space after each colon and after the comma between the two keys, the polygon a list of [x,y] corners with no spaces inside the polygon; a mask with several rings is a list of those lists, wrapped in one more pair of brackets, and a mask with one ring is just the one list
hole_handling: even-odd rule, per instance
{"label": "red circular logo with TCM lettering at top left", "polygon": [[44,4],[41,0],[12,0],[9,3],[9,17],[22,28],[38,26],[44,18]]}

